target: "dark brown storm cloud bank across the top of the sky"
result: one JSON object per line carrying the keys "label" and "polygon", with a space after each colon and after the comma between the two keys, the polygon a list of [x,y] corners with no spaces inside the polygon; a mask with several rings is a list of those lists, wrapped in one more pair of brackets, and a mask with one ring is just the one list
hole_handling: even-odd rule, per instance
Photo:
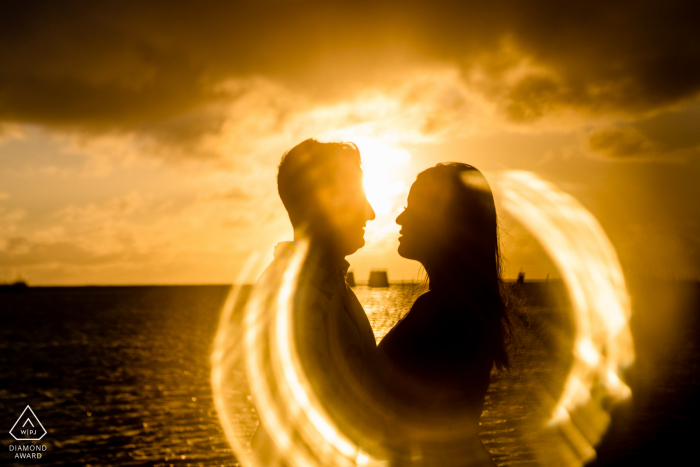
{"label": "dark brown storm cloud bank across the top of the sky", "polygon": [[[196,139],[221,124],[219,112],[196,114],[224,97],[226,78],[338,92],[372,84],[397,54],[457,64],[465,80],[478,68],[480,90],[514,121],[561,108],[643,114],[698,95],[696,10],[645,0],[4,2],[0,121]],[[523,60],[534,68],[509,74]]]}

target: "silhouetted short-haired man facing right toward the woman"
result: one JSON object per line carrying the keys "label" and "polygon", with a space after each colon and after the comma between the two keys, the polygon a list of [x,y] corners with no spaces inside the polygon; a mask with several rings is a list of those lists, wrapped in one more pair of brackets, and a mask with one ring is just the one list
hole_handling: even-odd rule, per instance
{"label": "silhouetted short-haired man facing right toward the woman", "polygon": [[[308,139],[282,157],[277,185],[294,242],[277,245],[263,278],[283,271],[279,266],[300,242],[308,245],[292,314],[299,361],[333,423],[352,434],[361,413],[362,374],[376,351],[367,315],[345,281],[345,257],[364,246],[364,228],[375,217],[363,188],[360,152],[352,143]],[[252,448],[261,464],[280,463],[265,427],[258,427]]]}

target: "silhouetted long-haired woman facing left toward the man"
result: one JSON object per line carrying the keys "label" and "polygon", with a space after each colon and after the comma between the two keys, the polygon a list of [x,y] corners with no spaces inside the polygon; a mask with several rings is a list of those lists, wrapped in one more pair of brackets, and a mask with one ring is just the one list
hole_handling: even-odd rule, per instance
{"label": "silhouetted long-haired woman facing left toward the man", "polygon": [[393,465],[495,465],[477,437],[491,368],[509,368],[496,209],[484,176],[438,164],[411,187],[399,254],[429,279],[378,347]]}

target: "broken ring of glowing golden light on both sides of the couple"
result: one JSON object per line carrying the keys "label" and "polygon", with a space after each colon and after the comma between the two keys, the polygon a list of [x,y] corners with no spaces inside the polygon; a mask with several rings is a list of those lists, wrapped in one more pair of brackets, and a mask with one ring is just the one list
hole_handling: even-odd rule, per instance
{"label": "broken ring of glowing golden light on both sides of the couple", "polygon": [[[630,394],[620,379],[634,359],[624,277],[602,228],[573,197],[527,172],[501,174],[493,186],[503,207],[547,249],[569,290],[576,319],[575,360],[550,429],[557,430],[562,444],[575,447],[573,458],[581,464],[595,454],[592,446],[607,428],[605,404]],[[301,243],[287,258],[276,260],[245,306],[240,287],[232,288],[224,304],[211,357],[221,425],[243,465],[384,465],[333,424],[301,368],[290,321],[305,252]],[[244,271],[256,259],[251,257]],[[245,281],[245,274],[237,283]],[[272,460],[251,449],[258,417]]]}

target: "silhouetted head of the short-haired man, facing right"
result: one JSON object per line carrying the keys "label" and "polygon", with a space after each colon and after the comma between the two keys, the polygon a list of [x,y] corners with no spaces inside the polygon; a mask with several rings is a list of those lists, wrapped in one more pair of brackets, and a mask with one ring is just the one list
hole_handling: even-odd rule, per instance
{"label": "silhouetted head of the short-haired man, facing right", "polygon": [[357,146],[299,143],[282,156],[277,188],[295,235],[324,242],[343,256],[364,246],[364,227],[374,210],[362,186]]}

